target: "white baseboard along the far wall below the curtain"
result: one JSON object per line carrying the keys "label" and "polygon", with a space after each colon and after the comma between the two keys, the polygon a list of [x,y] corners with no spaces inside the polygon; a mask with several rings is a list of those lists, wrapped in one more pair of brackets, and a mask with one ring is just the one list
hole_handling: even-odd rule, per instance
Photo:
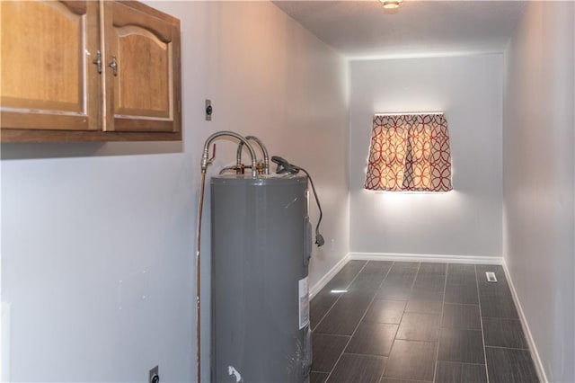
{"label": "white baseboard along the far wall below the curtain", "polygon": [[349,259],[362,261],[503,264],[503,258],[500,256],[443,254],[349,253]]}

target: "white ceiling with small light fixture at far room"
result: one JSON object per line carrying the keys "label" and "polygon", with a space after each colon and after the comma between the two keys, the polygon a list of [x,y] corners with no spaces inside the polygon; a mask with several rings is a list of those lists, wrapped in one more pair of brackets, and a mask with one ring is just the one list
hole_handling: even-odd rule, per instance
{"label": "white ceiling with small light fixture at far room", "polygon": [[394,58],[503,51],[523,1],[274,1],[347,58]]}

